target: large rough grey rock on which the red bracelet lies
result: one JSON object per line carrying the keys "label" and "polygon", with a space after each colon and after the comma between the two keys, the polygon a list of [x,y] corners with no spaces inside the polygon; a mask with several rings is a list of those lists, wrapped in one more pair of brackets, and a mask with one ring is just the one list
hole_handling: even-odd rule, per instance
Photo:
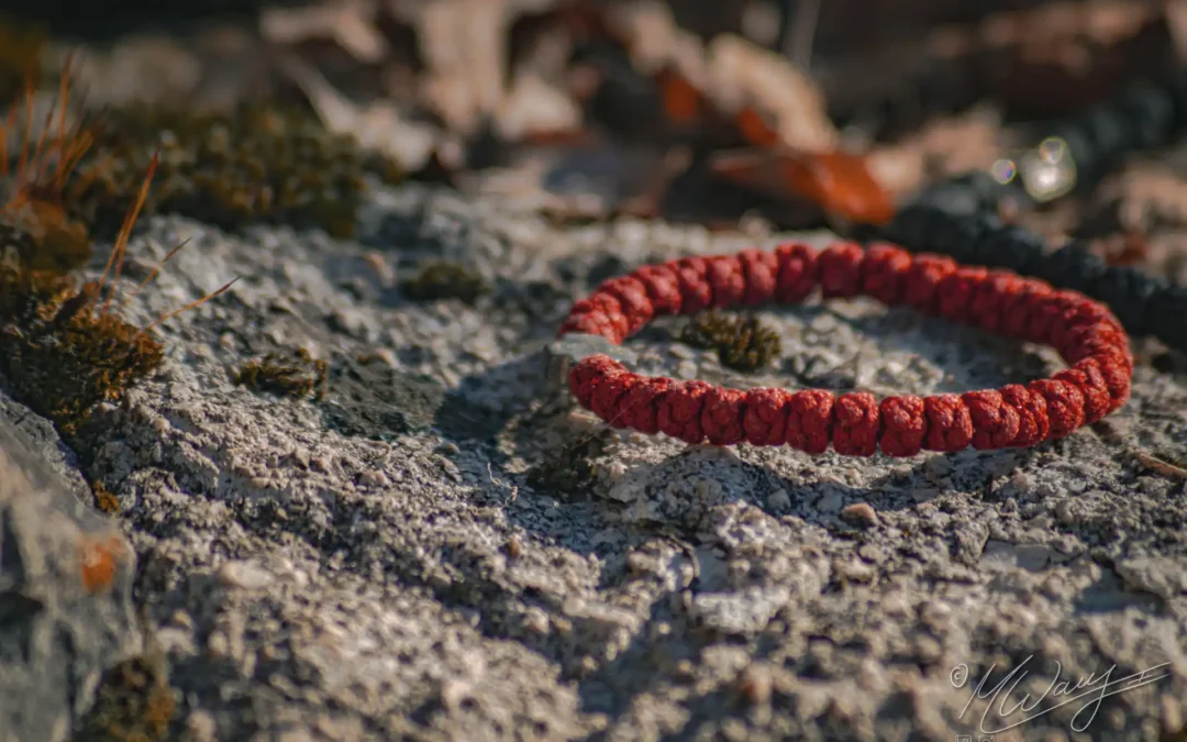
{"label": "large rough grey rock on which the red bracelet lies", "polygon": [[[164,372],[83,442],[141,559],[184,738],[947,741],[983,722],[1017,723],[998,740],[1062,740],[1090,721],[1093,738],[1182,734],[1183,481],[1092,430],[902,461],[605,432],[550,391],[569,304],[741,237],[558,229],[419,186],[381,194],[363,222],[356,242],[167,217],[132,242],[128,285],[191,237],[129,303],[141,321],[243,275],[165,325]],[[495,291],[475,307],[406,302],[396,279],[425,256],[476,265]],[[678,321],[630,341],[636,367],[929,393],[1054,363],[868,302],[763,315],[785,334],[766,374],[672,342]],[[293,345],[335,359],[328,401],[231,385]],[[1182,459],[1187,386],[1136,376],[1113,426]],[[540,484],[548,464],[588,481]],[[1115,680],[1168,677],[1096,712],[1088,698],[1029,722],[1002,697],[965,709],[986,673],[985,696],[1027,673],[1009,710],[1056,673],[1074,686],[1112,666]]]}

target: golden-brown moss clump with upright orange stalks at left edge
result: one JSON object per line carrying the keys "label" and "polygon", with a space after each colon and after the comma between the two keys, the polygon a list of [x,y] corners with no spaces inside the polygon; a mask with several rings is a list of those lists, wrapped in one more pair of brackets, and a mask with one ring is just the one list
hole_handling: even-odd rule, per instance
{"label": "golden-brown moss clump with upright orange stalks at left edge", "polygon": [[[58,110],[66,106],[69,65],[62,80]],[[24,112],[14,113],[6,121],[27,120]],[[64,118],[56,118],[56,127],[34,134],[25,126],[18,138],[11,138],[8,125],[0,128],[0,374],[18,399],[53,420],[69,439],[97,405],[118,401],[161,364],[164,348],[151,330],[172,315],[141,329],[120,316],[114,286],[103,297],[103,284],[113,268],[119,275],[148,197],[155,156],[147,173],[138,175],[138,192],[121,220],[103,279],[80,283],[69,271],[88,261],[91,242],[65,189],[94,129],[71,129]]]}

